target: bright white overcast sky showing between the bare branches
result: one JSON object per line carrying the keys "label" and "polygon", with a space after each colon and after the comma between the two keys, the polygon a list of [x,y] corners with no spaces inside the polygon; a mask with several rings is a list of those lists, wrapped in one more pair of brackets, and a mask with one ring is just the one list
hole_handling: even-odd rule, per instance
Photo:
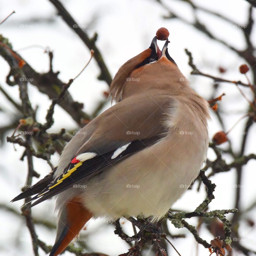
{"label": "bright white overcast sky showing between the bare branches", "polygon": [[[226,1],[193,1],[198,6],[216,11],[223,16],[235,21],[235,24],[245,25],[247,22],[247,13],[249,4],[243,0],[226,0]],[[73,15],[79,25],[87,26],[86,33],[90,36],[96,31],[98,33],[97,47],[101,51],[107,67],[112,77],[118,68],[131,57],[149,47],[155,32],[159,27],[166,27],[170,31],[169,53],[178,64],[181,71],[187,78],[193,78],[192,88],[200,95],[209,99],[212,92],[212,81],[208,78],[190,75],[191,68],[188,66],[188,57],[184,49],[187,48],[192,52],[194,63],[197,67],[205,72],[230,80],[239,80],[246,82],[245,77],[238,72],[238,67],[244,63],[243,59],[231,52],[225,46],[211,41],[204,34],[198,32],[177,19],[163,19],[162,16],[168,15],[168,8],[179,14],[184,19],[193,21],[192,10],[189,5],[182,1],[164,1],[166,9],[158,5],[155,1],[146,0],[108,0],[108,1],[62,1],[67,10]],[[53,69],[60,71],[59,78],[63,82],[74,78],[87,63],[90,58],[90,51],[78,36],[57,17],[54,6],[47,0],[9,0],[0,1],[0,19],[5,18],[9,13],[15,10],[5,23],[0,26],[0,34],[9,38],[13,49],[20,49],[30,45],[40,45],[43,48],[49,47],[54,52]],[[253,17],[255,17],[255,10]],[[207,28],[217,37],[228,42],[230,45],[243,49],[245,40],[242,32],[235,28],[235,24],[220,22],[219,19],[198,12],[200,21],[205,22]],[[40,21],[41,19],[53,19],[54,22]],[[93,22],[91,22],[93,20]],[[39,21],[39,22],[38,22]],[[22,27],[23,26],[23,27]],[[251,35],[252,41],[256,42],[256,31],[253,30]],[[161,43],[159,47],[161,49]],[[18,51],[21,56],[38,72],[46,72],[49,67],[49,58],[39,47],[29,48]],[[9,65],[0,58],[1,76],[0,84],[8,93],[19,102],[19,93],[17,86],[9,87],[5,83],[6,75],[9,73]],[[219,74],[218,67],[227,68],[225,74]],[[92,113],[97,103],[104,99],[103,91],[108,90],[108,86],[103,81],[98,81],[97,76],[99,69],[95,60],[85,71],[73,82],[69,92],[74,100],[85,104],[84,110]],[[249,74],[250,75],[250,74]],[[252,95],[248,89],[242,88],[248,98]],[[226,96],[220,103],[220,107],[225,110],[225,127],[226,131],[241,117],[248,103],[238,92],[234,85],[222,84],[219,87],[218,94],[225,92]],[[37,119],[39,122],[45,122],[45,115],[51,101],[45,96],[38,93],[34,86],[29,86],[29,96],[33,106],[39,106]],[[218,96],[218,95],[216,95]],[[15,109],[0,94],[0,105],[8,115],[0,113],[1,124],[5,125],[11,121]],[[109,107],[110,104],[106,106]],[[54,126],[49,130],[58,132],[61,128],[73,129],[76,127],[75,122],[60,107],[55,107]],[[228,135],[231,139],[234,151],[237,152],[242,141],[241,131],[245,120],[241,121]],[[221,129],[217,119],[213,116],[213,121],[209,123],[210,138]],[[11,135],[12,131],[8,135]],[[248,136],[246,154],[256,153],[255,149],[255,124],[251,128]],[[227,145],[223,144],[222,148]],[[18,193],[21,186],[25,183],[27,166],[26,161],[21,162],[18,159],[23,153],[23,149],[18,145],[15,146],[5,143],[0,148],[1,155],[1,201],[0,203],[10,204],[9,201]],[[209,158],[214,159],[214,154],[209,150]],[[232,159],[227,159],[231,162]],[[52,157],[54,165],[58,162],[58,155]],[[50,169],[42,159],[34,159],[35,170],[46,175]],[[255,161],[251,160],[244,168],[242,185],[242,208],[245,209],[251,203],[255,202],[256,191],[254,181]],[[37,179],[34,178],[34,182]],[[235,172],[231,170],[228,173],[216,174],[212,181],[217,185],[214,193],[215,199],[210,204],[210,210],[213,209],[230,209],[234,207],[234,184]],[[197,183],[195,184],[197,185]],[[197,187],[197,186],[195,186]],[[174,209],[183,209],[193,211],[195,207],[205,198],[205,191],[201,188],[200,193],[196,188],[188,191],[174,206]],[[11,207],[19,209],[21,202],[10,204]],[[53,223],[56,217],[52,214],[54,209],[54,200],[49,200],[33,208],[33,214],[39,215],[40,218],[49,218]],[[1,234],[0,234],[0,255],[33,255],[30,235],[25,226],[24,219],[17,218],[7,211],[0,213]],[[254,214],[254,215],[253,215]],[[256,221],[255,211],[251,212],[250,217]],[[92,251],[101,251],[109,255],[117,255],[127,251],[128,245],[121,241],[113,233],[113,227],[103,225],[103,220],[90,221],[87,230],[83,231],[83,236],[87,238],[87,244]],[[191,219],[189,223],[196,225],[196,219]],[[173,234],[179,232],[186,233],[185,240],[176,239],[172,241],[181,253],[181,255],[195,255],[196,243],[193,237],[185,230],[175,229],[172,225],[169,228]],[[130,224],[125,223],[125,230],[130,232]],[[47,244],[53,244],[55,240],[55,231],[47,230],[44,227],[36,226],[37,234],[42,241]],[[256,231],[255,227],[251,228],[245,222],[241,226],[241,238],[243,244],[256,250]],[[208,231],[202,229],[200,235],[210,241],[212,236]],[[20,238],[25,241],[19,241]],[[184,243],[186,246],[184,246]],[[174,254],[173,249],[170,252]],[[199,246],[199,255],[207,255],[208,251]],[[45,253],[40,250],[40,255]],[[63,255],[72,255],[66,252]]]}

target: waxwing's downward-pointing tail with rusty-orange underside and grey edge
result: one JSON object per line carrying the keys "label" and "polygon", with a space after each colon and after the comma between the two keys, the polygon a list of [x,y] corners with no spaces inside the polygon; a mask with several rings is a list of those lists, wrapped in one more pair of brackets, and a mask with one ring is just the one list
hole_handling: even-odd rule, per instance
{"label": "waxwing's downward-pointing tail with rusty-orange underside and grey edge", "polygon": [[92,217],[93,214],[83,207],[79,198],[73,198],[67,202],[60,209],[57,235],[49,256],[57,256],[62,253]]}

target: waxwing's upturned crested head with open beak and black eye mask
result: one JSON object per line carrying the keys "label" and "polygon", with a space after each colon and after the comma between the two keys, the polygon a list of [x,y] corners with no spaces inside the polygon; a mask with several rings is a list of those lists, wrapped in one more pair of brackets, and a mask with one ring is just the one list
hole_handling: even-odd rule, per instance
{"label": "waxwing's upturned crested head with open beak and black eye mask", "polygon": [[112,101],[119,102],[132,94],[156,88],[174,91],[178,84],[188,84],[168,53],[168,43],[167,38],[161,51],[155,36],[148,49],[119,68],[110,86]]}

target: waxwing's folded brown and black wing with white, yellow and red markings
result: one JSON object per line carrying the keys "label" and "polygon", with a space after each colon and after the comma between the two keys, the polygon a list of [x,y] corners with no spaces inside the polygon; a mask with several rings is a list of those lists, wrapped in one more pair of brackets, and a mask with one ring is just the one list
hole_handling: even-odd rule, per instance
{"label": "waxwing's folded brown and black wing with white, yellow and red markings", "polygon": [[[133,97],[133,101],[125,99],[103,112],[91,124],[94,129],[91,137],[72,156],[63,172],[28,201],[37,199],[29,207],[94,177],[104,171],[103,168],[156,143],[165,136],[166,119],[172,105],[173,99],[167,95],[144,95],[143,101],[138,95]],[[90,129],[89,123],[81,131],[91,133]],[[73,138],[71,143],[79,142]],[[69,146],[72,148],[69,144],[67,148]]]}

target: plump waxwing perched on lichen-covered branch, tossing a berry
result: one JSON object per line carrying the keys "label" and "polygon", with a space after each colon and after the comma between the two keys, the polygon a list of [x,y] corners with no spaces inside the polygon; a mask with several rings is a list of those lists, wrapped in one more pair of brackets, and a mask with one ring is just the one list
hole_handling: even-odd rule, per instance
{"label": "plump waxwing perched on lichen-covered branch, tossing a berry", "polygon": [[[168,32],[169,35],[169,32]],[[166,39],[166,38],[165,38]],[[56,197],[59,255],[91,218],[160,220],[197,178],[208,150],[208,102],[155,36],[110,85],[111,107],[65,146],[58,166],[12,201]]]}

